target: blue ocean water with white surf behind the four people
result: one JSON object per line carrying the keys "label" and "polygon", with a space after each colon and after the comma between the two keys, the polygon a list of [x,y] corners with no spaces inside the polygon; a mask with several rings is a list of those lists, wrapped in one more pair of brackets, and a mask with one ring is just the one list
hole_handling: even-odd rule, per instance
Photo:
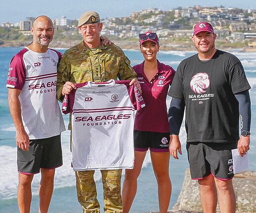
{"label": "blue ocean water with white surf behind the four people", "polygon": [[[17,166],[16,166],[16,142],[15,128],[9,114],[7,95],[5,87],[9,62],[13,55],[20,51],[22,47],[0,47],[0,212],[18,213],[17,206]],[[64,52],[65,50],[60,49]],[[132,65],[141,63],[143,57],[138,50],[125,50],[126,55]],[[252,136],[251,149],[249,151],[249,170],[256,171],[256,52],[232,51],[242,62],[249,83],[252,101]],[[194,51],[160,51],[159,61],[177,68],[179,62],[191,55]],[[171,99],[168,98],[169,107]],[[68,116],[63,115],[65,124],[68,124]],[[177,201],[177,197],[182,187],[184,172],[188,168],[187,155],[185,150],[186,133],[184,122],[180,131],[180,141],[182,142],[182,153],[179,160],[170,160],[170,177],[172,181],[172,194],[169,209]],[[69,131],[62,133],[63,166],[56,169],[55,187],[49,208],[49,213],[79,213],[82,212],[76,197],[75,175],[71,168],[71,153],[69,151]],[[101,176],[99,172],[94,176],[97,185],[98,200],[103,209],[103,192]],[[123,181],[123,179],[122,179]],[[38,185],[40,174],[35,175],[32,183],[33,199],[31,213],[38,212]],[[150,162],[150,155],[146,155],[140,177],[138,178],[137,195],[133,202],[131,213],[146,213],[158,211],[157,183]],[[102,210],[103,212],[103,210]]]}

